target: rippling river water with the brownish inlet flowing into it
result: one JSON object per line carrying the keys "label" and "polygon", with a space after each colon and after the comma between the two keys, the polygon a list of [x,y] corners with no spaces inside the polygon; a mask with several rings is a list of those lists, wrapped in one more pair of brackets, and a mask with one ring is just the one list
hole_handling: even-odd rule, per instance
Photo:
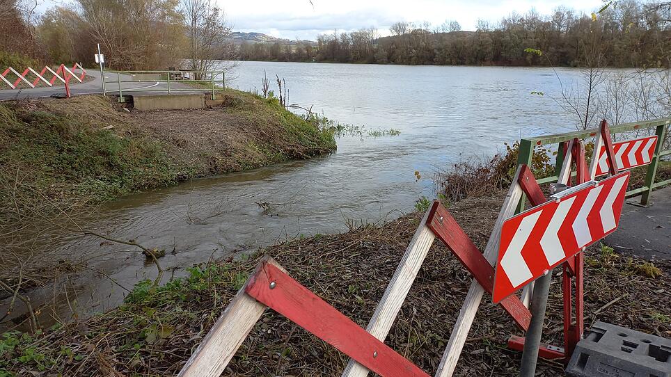
{"label": "rippling river water with the brownish inlet flowing into it", "polygon": [[[264,70],[287,81],[291,103],[314,105],[333,120],[365,126],[363,137],[338,138],[338,152],[328,157],[129,195],[104,205],[88,227],[165,249],[160,262],[172,269],[167,279],[210,258],[342,232],[348,221],[396,218],[421,196],[434,195],[432,176],[438,168],[486,158],[521,135],[575,129],[576,122],[551,98],[560,89],[545,68],[244,62],[229,85],[260,88]],[[560,70],[560,75],[567,83],[579,72]],[[533,90],[545,95],[532,95]],[[398,129],[400,135],[367,136],[379,129]],[[271,203],[270,209],[258,202]],[[88,259],[107,276],[83,271],[68,282],[67,297],[59,282],[63,287],[56,300],[53,287],[30,292],[35,303],[52,302],[42,310],[44,323],[53,322],[52,315],[71,318],[70,307],[79,317],[116,307],[127,292],[110,278],[131,289],[157,273],[129,246],[72,234],[52,234],[52,241],[59,255]]]}

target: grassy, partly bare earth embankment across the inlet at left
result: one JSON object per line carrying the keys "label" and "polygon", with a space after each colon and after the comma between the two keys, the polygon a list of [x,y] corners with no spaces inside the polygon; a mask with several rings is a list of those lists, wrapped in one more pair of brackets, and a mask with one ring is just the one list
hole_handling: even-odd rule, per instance
{"label": "grassy, partly bare earth embankment across the inlet at left", "polygon": [[95,96],[4,102],[0,196],[100,202],[335,149],[332,130],[235,90],[205,110],[127,113]]}

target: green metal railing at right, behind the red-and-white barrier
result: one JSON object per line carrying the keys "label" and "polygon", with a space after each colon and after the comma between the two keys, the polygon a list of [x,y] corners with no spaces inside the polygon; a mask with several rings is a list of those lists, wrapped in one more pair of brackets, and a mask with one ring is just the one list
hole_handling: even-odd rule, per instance
{"label": "green metal railing at right, behind the red-and-white barrier", "polygon": [[[647,166],[647,173],[645,175],[644,186],[626,192],[627,197],[641,194],[641,205],[647,205],[648,200],[650,198],[650,194],[652,193],[653,189],[671,184],[671,179],[666,179],[665,181],[661,182],[655,182],[655,175],[657,173],[657,166],[659,164],[659,161],[661,160],[662,157],[671,154],[671,150],[663,149],[665,141],[664,139],[666,133],[668,132],[669,125],[671,125],[671,118],[647,120],[645,122],[624,123],[622,125],[616,125],[610,127],[611,135],[624,134],[626,132],[640,131],[644,129],[653,129],[653,128],[655,129],[655,134],[658,137],[658,142],[657,146],[655,147],[652,161],[650,161],[649,165]],[[519,166],[523,163],[526,163],[527,165],[530,166],[533,157],[533,150],[534,147],[536,146],[559,144],[557,158],[555,161],[555,175],[551,177],[543,177],[542,179],[538,179],[539,184],[556,182],[556,180],[558,179],[559,172],[562,168],[562,164],[564,163],[565,143],[568,143],[574,138],[580,138],[580,139],[591,138],[596,136],[598,132],[599,132],[598,129],[586,129],[584,131],[567,132],[565,134],[537,136],[534,138],[522,138],[519,141],[519,155],[517,158],[517,164]],[[522,198],[518,210],[523,209],[523,205],[524,205],[524,198]]]}

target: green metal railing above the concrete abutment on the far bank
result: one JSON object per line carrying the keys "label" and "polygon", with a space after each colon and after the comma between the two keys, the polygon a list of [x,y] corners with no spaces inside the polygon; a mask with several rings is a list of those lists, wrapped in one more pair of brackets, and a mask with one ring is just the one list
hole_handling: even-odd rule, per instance
{"label": "green metal railing above the concrete abutment on the far bank", "polygon": [[[106,81],[105,73],[116,75],[116,80]],[[107,91],[119,93],[119,102],[125,102],[123,93],[138,92],[167,92],[168,94],[180,92],[194,92],[207,90],[216,99],[216,92],[226,90],[226,74],[223,71],[105,71],[102,76],[103,88]],[[221,76],[221,77],[220,77]],[[198,77],[196,79],[196,77]],[[158,85],[144,86],[139,88],[123,88],[125,83],[155,83]],[[165,83],[161,86],[161,83]],[[172,83],[172,86],[171,86]],[[116,84],[116,90],[110,90]],[[175,84],[179,85],[176,86]],[[180,84],[196,84],[193,87],[184,88]],[[218,84],[221,84],[219,86]]]}

